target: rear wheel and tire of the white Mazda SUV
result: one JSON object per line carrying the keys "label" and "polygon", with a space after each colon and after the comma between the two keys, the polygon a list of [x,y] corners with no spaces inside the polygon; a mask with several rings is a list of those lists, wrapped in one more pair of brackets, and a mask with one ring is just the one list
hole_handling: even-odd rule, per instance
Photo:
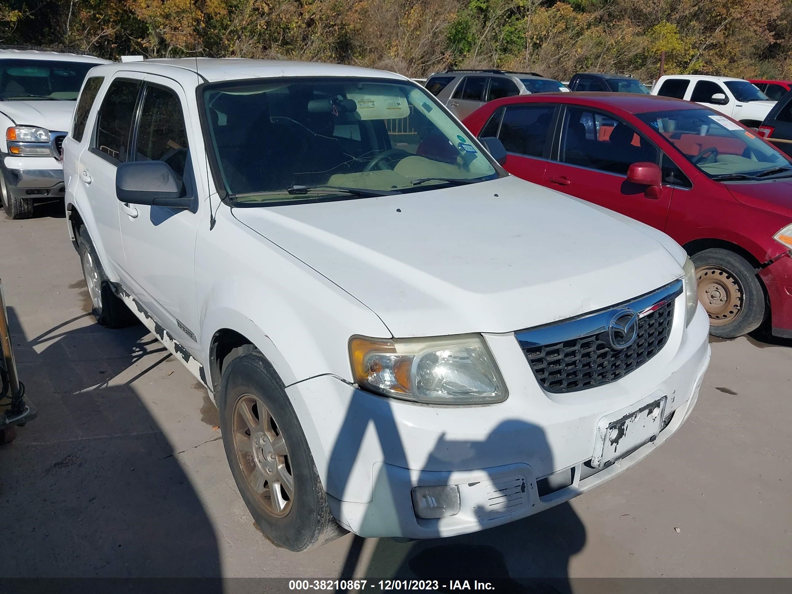
{"label": "rear wheel and tire of the white Mazda SUV", "polygon": [[126,304],[112,292],[105,269],[97,256],[96,249],[85,227],[80,227],[77,237],[82,276],[85,277],[88,294],[91,298],[91,313],[101,326],[124,328],[138,322],[138,318]]}

